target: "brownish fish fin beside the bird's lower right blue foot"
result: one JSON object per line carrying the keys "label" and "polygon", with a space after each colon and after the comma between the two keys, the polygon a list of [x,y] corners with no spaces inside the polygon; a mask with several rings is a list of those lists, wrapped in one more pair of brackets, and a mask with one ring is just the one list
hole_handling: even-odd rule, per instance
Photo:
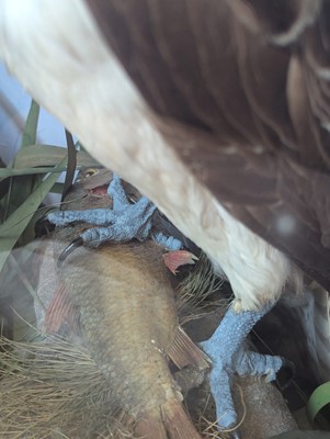
{"label": "brownish fish fin beside the bird's lower right blue foot", "polygon": [[178,326],[168,356],[179,369],[189,364],[197,365],[201,369],[209,368],[208,357],[193,342],[181,326]]}

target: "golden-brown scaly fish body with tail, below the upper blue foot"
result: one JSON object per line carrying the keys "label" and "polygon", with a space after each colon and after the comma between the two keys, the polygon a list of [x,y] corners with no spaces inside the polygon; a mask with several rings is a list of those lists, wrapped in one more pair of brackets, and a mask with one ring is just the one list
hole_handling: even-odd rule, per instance
{"label": "golden-brown scaly fish body with tail, below the upper blue foot", "polygon": [[167,362],[179,324],[161,254],[153,243],[80,248],[59,271],[80,308],[84,342],[138,434],[200,438]]}

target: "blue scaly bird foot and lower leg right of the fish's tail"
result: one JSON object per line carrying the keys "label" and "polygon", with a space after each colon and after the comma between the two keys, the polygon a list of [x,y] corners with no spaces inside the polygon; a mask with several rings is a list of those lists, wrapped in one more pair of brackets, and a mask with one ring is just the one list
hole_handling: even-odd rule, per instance
{"label": "blue scaly bird foot and lower leg right of the fish's tail", "polygon": [[246,347],[246,337],[273,305],[271,303],[260,311],[240,313],[235,312],[231,305],[213,336],[201,344],[213,362],[209,384],[219,430],[230,429],[237,424],[231,397],[231,375],[266,375],[266,381],[273,381],[283,364],[280,357],[252,352]]}

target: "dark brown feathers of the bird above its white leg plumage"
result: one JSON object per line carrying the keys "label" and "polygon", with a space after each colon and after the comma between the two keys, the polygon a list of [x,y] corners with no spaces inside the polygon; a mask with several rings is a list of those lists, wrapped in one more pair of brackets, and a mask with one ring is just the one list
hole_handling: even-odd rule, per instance
{"label": "dark brown feathers of the bird above its white leg plumage", "polygon": [[330,2],[86,1],[200,181],[330,289]]}

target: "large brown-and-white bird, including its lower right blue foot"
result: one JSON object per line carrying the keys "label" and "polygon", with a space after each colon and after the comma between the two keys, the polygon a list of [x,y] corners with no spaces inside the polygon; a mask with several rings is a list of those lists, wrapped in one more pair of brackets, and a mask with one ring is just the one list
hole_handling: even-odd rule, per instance
{"label": "large brown-and-white bird, including its lower right blue foot", "polygon": [[330,289],[330,1],[1,0],[0,56],[229,280],[203,348],[235,425],[230,374],[282,363],[246,335],[303,272]]}

